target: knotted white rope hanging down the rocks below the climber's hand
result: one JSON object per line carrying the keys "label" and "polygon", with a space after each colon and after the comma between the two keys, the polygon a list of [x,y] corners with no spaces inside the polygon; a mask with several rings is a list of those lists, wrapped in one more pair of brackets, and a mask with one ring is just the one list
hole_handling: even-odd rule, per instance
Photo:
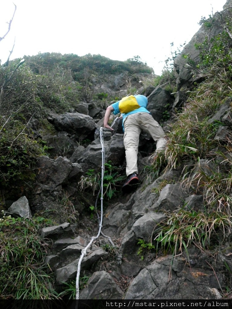
{"label": "knotted white rope hanging down the rocks below the climber's hand", "polygon": [[[96,240],[100,233],[102,228],[102,218],[103,218],[103,178],[105,173],[105,147],[104,147],[104,140],[103,140],[103,133],[102,133],[102,127],[100,128],[100,141],[101,141],[101,217],[99,222],[99,230],[97,233],[97,236],[92,237],[88,245],[81,251],[81,256],[79,258],[78,266],[77,266],[77,274],[76,274],[76,299],[79,299],[79,277],[80,277],[80,265],[83,260],[83,257],[86,255],[87,249],[92,245],[93,241]],[[100,193],[99,191],[99,193]],[[98,193],[98,196],[99,196]],[[98,198],[97,196],[97,198]],[[96,205],[96,204],[95,204]]]}

